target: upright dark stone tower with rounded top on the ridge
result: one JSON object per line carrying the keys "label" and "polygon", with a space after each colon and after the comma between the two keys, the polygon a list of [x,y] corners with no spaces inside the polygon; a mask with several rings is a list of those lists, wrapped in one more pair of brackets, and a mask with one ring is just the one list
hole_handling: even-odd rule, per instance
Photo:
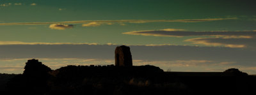
{"label": "upright dark stone tower with rounded top on the ridge", "polygon": [[130,47],[122,45],[115,50],[115,66],[132,66]]}

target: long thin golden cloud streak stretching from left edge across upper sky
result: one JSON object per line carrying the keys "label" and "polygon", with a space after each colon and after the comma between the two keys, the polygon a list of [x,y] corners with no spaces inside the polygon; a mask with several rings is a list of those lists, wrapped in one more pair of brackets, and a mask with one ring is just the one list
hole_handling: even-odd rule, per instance
{"label": "long thin golden cloud streak stretching from left edge across upper sky", "polygon": [[215,20],[235,20],[237,18],[203,18],[203,19],[185,19],[185,20],[78,20],[65,22],[15,22],[15,23],[0,23],[0,26],[12,25],[42,25],[42,24],[84,24],[84,23],[150,23],[150,22],[207,22]]}

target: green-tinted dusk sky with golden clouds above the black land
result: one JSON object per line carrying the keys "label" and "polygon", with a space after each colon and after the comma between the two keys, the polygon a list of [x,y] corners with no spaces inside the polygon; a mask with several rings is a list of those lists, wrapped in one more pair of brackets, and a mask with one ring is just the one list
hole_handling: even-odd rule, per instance
{"label": "green-tinted dusk sky with golden clouds above the black land", "polygon": [[134,66],[164,71],[256,74],[253,0],[0,0],[0,73],[28,59],[52,69],[115,63],[131,48]]}

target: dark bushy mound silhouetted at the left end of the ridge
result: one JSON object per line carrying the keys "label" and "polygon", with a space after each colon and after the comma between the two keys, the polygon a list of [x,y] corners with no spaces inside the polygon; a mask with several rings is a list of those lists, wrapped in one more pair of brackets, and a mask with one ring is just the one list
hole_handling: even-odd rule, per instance
{"label": "dark bushy mound silhouetted at the left end of the ridge", "polygon": [[51,68],[42,64],[36,59],[31,59],[26,62],[22,75],[13,77],[6,88],[9,94],[44,94],[49,90],[47,85],[49,78],[49,72]]}

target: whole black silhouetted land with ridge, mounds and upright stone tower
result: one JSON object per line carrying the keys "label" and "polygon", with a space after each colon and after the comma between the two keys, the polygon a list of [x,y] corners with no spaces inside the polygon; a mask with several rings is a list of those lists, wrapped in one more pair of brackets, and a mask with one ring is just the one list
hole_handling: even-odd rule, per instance
{"label": "whole black silhouetted land with ridge, mounds and upright stone tower", "polygon": [[255,77],[231,68],[217,73],[164,72],[132,66],[127,46],[116,47],[115,66],[65,66],[52,70],[36,59],[26,62],[3,94],[250,94]]}

